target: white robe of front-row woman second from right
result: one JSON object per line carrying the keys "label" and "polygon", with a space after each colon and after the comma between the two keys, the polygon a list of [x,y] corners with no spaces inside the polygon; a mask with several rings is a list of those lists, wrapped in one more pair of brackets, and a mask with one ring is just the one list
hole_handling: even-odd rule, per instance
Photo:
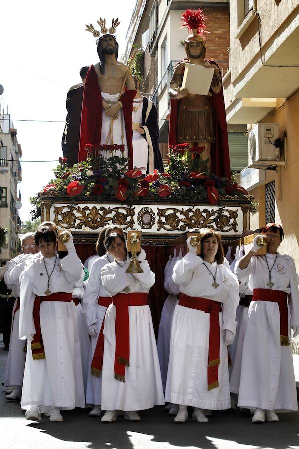
{"label": "white robe of front-row woman second from right", "polygon": [[[216,262],[208,264],[215,275]],[[239,302],[239,284],[224,265],[218,265],[216,282],[203,265],[203,260],[188,253],[176,262],[173,280],[180,291],[188,296],[197,296],[222,303],[219,313],[220,364],[219,387],[208,391],[207,367],[209,350],[210,315],[201,310],[176,305],[171,329],[170,357],[165,400],[173,404],[221,410],[230,408],[227,345],[222,331],[228,329],[235,335],[236,308]]]}

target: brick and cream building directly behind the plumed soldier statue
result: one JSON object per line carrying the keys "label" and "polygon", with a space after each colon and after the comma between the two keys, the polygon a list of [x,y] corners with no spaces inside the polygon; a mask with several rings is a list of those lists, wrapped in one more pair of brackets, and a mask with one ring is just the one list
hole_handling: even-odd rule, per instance
{"label": "brick and cream building directly behind the plumed soldier statue", "polygon": [[[134,45],[143,50],[142,90],[158,109],[160,150],[167,160],[169,122],[168,90],[176,63],[186,57],[183,41],[188,36],[186,28],[180,28],[180,16],[188,8],[202,8],[207,19],[206,58],[217,62],[225,77],[229,70],[230,19],[227,0],[137,0],[127,32],[126,51],[122,61],[132,55]],[[229,146],[232,170],[240,171],[247,165],[246,126],[229,125]]]}

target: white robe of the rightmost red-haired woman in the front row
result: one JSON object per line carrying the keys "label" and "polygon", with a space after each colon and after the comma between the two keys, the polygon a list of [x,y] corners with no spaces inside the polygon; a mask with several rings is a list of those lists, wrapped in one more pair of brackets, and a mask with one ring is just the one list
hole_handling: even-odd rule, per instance
{"label": "white robe of the rightmost red-haired woman in the front row", "polygon": [[[275,257],[276,254],[267,254],[270,268]],[[240,280],[249,279],[251,290],[269,289],[269,272],[263,256],[252,257],[244,270],[239,268],[239,263],[235,272]],[[299,293],[293,259],[278,254],[271,275],[273,290],[285,291],[289,295],[291,340],[290,326],[299,325]],[[276,302],[253,301],[250,304],[242,351],[238,406],[297,410],[292,348],[291,345],[280,345],[280,315]]]}

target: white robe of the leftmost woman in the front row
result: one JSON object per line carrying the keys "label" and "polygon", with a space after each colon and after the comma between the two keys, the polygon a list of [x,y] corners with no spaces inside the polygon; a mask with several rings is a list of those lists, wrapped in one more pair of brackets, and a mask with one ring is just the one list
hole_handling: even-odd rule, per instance
{"label": "white robe of the leftmost woman in the front row", "polygon": [[[47,274],[54,267],[55,257],[37,254],[21,275],[19,338],[35,334],[33,306],[35,295],[45,296]],[[60,260],[50,278],[52,293],[73,293],[73,285],[81,278],[81,261],[76,252]],[[61,409],[85,407],[80,342],[76,306],[72,302],[43,301],[40,304],[40,326],[45,359],[33,360],[31,345],[27,346],[21,407],[40,405]]]}

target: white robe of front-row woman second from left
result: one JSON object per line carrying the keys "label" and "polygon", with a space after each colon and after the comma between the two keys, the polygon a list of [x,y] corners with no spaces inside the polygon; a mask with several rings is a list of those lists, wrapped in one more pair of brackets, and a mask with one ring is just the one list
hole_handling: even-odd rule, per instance
{"label": "white robe of front-row woman second from left", "polygon": [[[155,275],[144,260],[142,250],[138,259],[142,260],[143,273],[128,274],[127,262],[112,262],[101,270],[102,284],[111,295],[129,292],[148,293],[154,284]],[[126,291],[128,292],[128,289]],[[102,371],[103,410],[144,410],[164,404],[163,386],[158,353],[152,326],[149,305],[129,306],[130,366],[125,370],[125,382],[114,378],[115,357],[115,314],[111,304],[106,312],[104,326],[104,358]]]}

